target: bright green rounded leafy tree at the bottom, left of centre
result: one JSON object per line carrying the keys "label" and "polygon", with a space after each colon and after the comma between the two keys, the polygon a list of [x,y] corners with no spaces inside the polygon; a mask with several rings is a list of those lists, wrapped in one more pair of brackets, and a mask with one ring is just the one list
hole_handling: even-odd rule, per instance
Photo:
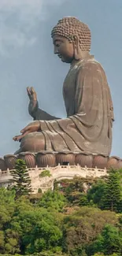
{"label": "bright green rounded leafy tree at the bottom, left of centre", "polygon": [[29,206],[26,210],[22,206],[11,221],[11,228],[19,232],[20,248],[24,254],[61,247],[62,232],[59,221],[57,222],[54,213],[46,209]]}

